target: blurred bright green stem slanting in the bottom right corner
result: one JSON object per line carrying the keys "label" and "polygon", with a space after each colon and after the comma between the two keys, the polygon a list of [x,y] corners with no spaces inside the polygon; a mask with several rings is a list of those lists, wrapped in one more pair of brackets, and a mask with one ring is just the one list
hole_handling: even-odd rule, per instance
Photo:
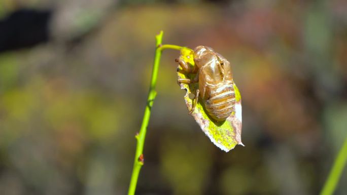
{"label": "blurred bright green stem slanting in the bottom right corner", "polygon": [[347,137],[337,154],[334,165],[330,170],[328,179],[325,181],[324,187],[320,195],[331,195],[334,193],[336,185],[340,179],[343,172],[343,168],[347,162]]}

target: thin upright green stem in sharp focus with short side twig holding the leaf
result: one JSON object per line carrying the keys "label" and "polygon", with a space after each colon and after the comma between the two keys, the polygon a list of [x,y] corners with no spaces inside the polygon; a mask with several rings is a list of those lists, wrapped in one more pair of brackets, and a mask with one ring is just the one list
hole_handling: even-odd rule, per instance
{"label": "thin upright green stem in sharp focus with short side twig holding the leaf", "polygon": [[147,106],[145,109],[144,118],[142,120],[141,129],[140,129],[140,132],[138,132],[138,134],[136,134],[136,136],[135,136],[135,138],[137,140],[137,145],[136,145],[135,159],[134,159],[134,165],[132,168],[132,174],[131,174],[131,179],[130,179],[130,184],[129,184],[128,195],[135,194],[138,174],[140,173],[141,167],[144,165],[143,150],[144,150],[147,126],[148,126],[148,122],[149,122],[150,115],[151,115],[151,108],[153,106],[153,101],[154,101],[155,96],[157,94],[155,91],[155,86],[157,83],[161,52],[164,49],[181,50],[183,48],[181,46],[176,46],[176,45],[161,45],[162,38],[163,38],[163,31],[160,31],[160,33],[158,35],[156,35],[155,38],[156,38],[156,50],[155,50],[154,64],[153,64],[153,70],[152,70],[150,90],[148,93]]}

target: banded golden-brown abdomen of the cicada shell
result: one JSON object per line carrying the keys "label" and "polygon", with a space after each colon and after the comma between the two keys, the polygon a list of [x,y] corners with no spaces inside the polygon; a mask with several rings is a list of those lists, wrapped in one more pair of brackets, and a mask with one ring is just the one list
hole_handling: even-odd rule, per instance
{"label": "banded golden-brown abdomen of the cicada shell", "polygon": [[235,109],[233,85],[222,85],[211,90],[209,99],[204,101],[206,111],[216,121],[224,121]]}

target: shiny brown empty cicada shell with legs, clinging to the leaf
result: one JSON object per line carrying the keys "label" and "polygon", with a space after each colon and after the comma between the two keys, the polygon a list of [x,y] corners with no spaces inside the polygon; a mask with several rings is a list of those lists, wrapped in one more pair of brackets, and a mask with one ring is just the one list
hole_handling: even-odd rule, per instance
{"label": "shiny brown empty cicada shell with legs, clinging to the leaf", "polygon": [[230,63],[212,48],[198,46],[194,49],[194,66],[183,59],[176,61],[185,73],[196,73],[194,79],[179,79],[178,83],[199,82],[195,100],[190,112],[193,112],[200,97],[207,113],[215,121],[225,121],[235,109],[235,91]]}

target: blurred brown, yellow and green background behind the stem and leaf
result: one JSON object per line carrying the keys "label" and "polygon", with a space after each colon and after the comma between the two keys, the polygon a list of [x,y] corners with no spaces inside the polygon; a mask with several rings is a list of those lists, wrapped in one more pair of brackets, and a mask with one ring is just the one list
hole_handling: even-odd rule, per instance
{"label": "blurred brown, yellow and green background behind the stem and leaf", "polygon": [[136,194],[319,193],[347,136],[343,0],[0,0],[0,194],[126,194],[160,30],[232,63],[246,147],[203,134],[166,50]]}

